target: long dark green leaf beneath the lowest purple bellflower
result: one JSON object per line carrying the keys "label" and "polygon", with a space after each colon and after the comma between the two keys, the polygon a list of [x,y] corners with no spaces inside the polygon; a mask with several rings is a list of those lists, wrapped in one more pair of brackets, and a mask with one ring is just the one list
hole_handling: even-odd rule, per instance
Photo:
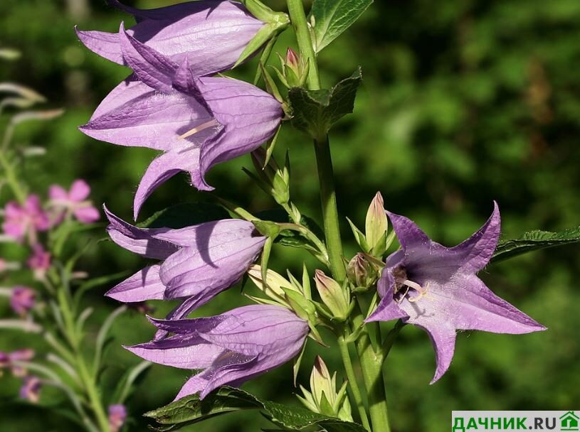
{"label": "long dark green leaf beneath the lowest purple bellflower", "polygon": [[232,387],[220,387],[201,401],[199,396],[186,396],[155,411],[144,414],[163,426],[156,431],[176,431],[184,426],[233,411],[258,409],[276,426],[289,431],[307,431],[320,426],[328,432],[364,432],[357,423],[349,423],[295,406],[285,406]]}

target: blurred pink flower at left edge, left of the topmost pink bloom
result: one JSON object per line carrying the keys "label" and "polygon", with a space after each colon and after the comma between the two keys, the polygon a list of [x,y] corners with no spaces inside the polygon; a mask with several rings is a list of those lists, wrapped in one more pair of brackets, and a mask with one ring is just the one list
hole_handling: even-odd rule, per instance
{"label": "blurred pink flower at left edge, left of the topmost pink bloom", "polygon": [[14,237],[19,242],[28,234],[31,243],[36,243],[36,232],[46,231],[50,227],[50,220],[41,207],[38,195],[28,195],[24,205],[10,201],[4,207],[2,229],[6,235]]}

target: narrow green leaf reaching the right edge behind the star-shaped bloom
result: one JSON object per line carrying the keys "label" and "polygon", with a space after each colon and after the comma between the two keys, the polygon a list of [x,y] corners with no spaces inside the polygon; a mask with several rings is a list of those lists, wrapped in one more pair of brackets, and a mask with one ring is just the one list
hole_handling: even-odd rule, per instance
{"label": "narrow green leaf reaching the right edge behind the star-shaped bloom", "polygon": [[519,239],[502,240],[497,244],[492,262],[503,261],[547,247],[563,246],[564,244],[578,242],[580,242],[580,227],[564,229],[564,231],[560,232],[530,231],[523,234]]}

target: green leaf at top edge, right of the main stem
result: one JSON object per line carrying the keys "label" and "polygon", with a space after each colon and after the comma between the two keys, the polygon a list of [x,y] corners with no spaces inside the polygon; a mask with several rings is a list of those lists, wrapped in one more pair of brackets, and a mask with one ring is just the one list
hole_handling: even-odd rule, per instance
{"label": "green leaf at top edge, right of the main stem", "polygon": [[373,0],[315,0],[310,16],[314,49],[320,53],[340,33],[352,26]]}

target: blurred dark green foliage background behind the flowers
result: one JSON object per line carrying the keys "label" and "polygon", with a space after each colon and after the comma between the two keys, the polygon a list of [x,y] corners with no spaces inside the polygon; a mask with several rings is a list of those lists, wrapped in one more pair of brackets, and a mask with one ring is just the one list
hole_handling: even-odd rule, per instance
{"label": "blurred dark green foliage background behind the flowers", "polygon": [[[140,0],[152,8],[176,1]],[[283,10],[284,2],[267,1]],[[21,51],[16,62],[0,64],[0,81],[16,81],[63,107],[63,117],[27,124],[16,142],[45,146],[44,158],[23,167],[33,190],[85,178],[93,199],[130,220],[132,194],[155,153],[89,139],[77,130],[128,70],[90,53],[73,31],[117,31],[125,13],[102,0],[1,0],[0,46]],[[277,45],[294,45],[290,31]],[[577,0],[378,0],[362,19],[320,55],[325,85],[362,65],[364,84],[352,116],[332,132],[339,210],[362,225],[376,190],[386,207],[414,218],[428,234],[453,245],[487,219],[492,200],[502,210],[504,238],[529,229],[558,230],[579,225],[580,211],[580,2]],[[251,79],[256,63],[233,75]],[[305,136],[286,127],[276,156],[290,149],[292,197],[302,212],[320,220],[315,161]],[[251,211],[273,201],[241,172],[249,157],[214,168],[209,183],[223,198]],[[8,197],[2,196],[4,202]],[[175,202],[208,200],[185,176],[165,183],[144,208],[146,217]],[[347,253],[356,252],[343,224]],[[102,233],[95,234],[96,238]],[[79,240],[81,242],[82,240]],[[302,255],[275,249],[275,269],[301,266]],[[101,242],[81,268],[91,275],[136,270],[142,260]],[[309,261],[312,264],[312,261]],[[495,293],[529,313],[549,330],[532,335],[463,333],[443,379],[428,385],[434,355],[425,333],[404,328],[387,361],[390,414],[394,431],[449,430],[451,410],[577,409],[580,404],[580,254],[562,247],[489,266],[481,275]],[[312,270],[312,265],[310,266]],[[5,284],[3,281],[2,284]],[[107,287],[86,298],[102,319],[115,302],[102,298]],[[237,288],[219,296],[201,313],[221,313],[245,303]],[[156,315],[169,308],[156,304]],[[4,303],[0,305],[4,311]],[[0,311],[1,312],[1,311]],[[93,329],[95,332],[97,328]],[[137,359],[120,344],[148,340],[152,327],[139,313],[126,313],[113,330],[105,385],[112,385]],[[0,333],[0,350],[34,345],[26,335]],[[307,380],[320,352],[332,369],[332,349],[312,345],[303,363]],[[141,414],[166,404],[188,372],[154,366],[129,403],[130,431],[143,431]],[[297,404],[291,367],[246,384],[248,391]],[[1,431],[75,431],[54,411],[15,399],[18,382],[0,382]],[[63,397],[46,392],[43,403]],[[267,422],[254,414],[233,414],[193,426],[191,431],[258,431]]]}

